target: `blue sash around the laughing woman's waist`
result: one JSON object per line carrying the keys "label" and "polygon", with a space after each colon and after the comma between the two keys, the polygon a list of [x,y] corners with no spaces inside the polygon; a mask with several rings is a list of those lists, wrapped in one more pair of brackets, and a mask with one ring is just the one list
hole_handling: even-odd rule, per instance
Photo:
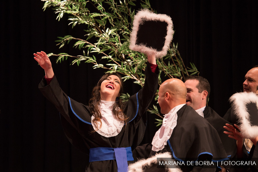
{"label": "blue sash around the laughing woman's waist", "polygon": [[105,161],[105,160],[116,160],[117,171],[126,172],[128,170],[127,161],[134,161],[132,157],[131,147],[127,148],[106,148],[97,147],[90,148],[89,162],[92,161]]}

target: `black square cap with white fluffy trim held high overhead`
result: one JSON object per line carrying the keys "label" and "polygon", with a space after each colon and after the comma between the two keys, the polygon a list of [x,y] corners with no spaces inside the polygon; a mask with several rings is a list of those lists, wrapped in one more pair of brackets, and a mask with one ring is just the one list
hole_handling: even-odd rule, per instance
{"label": "black square cap with white fluffy trim held high overhead", "polygon": [[167,54],[173,34],[173,22],[168,15],[142,9],[134,16],[129,47],[161,58]]}

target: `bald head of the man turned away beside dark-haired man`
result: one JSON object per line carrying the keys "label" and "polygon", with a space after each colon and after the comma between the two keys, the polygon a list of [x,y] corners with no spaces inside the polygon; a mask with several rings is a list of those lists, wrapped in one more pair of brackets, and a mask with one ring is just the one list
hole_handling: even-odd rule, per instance
{"label": "bald head of the man turned away beside dark-haired man", "polygon": [[159,87],[158,103],[161,113],[167,114],[175,106],[186,103],[187,90],[180,79],[168,79]]}

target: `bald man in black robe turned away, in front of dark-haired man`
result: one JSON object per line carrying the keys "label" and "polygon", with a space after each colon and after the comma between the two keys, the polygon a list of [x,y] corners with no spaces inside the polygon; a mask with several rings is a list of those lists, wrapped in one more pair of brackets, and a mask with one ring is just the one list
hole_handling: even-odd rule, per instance
{"label": "bald man in black robe turned away, in front of dark-haired man", "polygon": [[[168,79],[159,88],[158,103],[165,114],[161,128],[152,141],[149,156],[170,152],[180,162],[228,160],[218,133],[207,120],[186,105],[186,87],[179,79]],[[143,148],[145,151],[147,147]],[[136,148],[137,151],[137,148]],[[140,155],[140,154],[138,154]],[[182,171],[216,171],[196,164],[180,166]],[[217,169],[218,170],[218,169]]]}

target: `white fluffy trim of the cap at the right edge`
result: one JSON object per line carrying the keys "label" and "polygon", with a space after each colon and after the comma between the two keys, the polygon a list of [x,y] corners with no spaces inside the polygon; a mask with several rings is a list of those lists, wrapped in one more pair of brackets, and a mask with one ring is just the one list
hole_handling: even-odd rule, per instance
{"label": "white fluffy trim of the cap at the right edge", "polygon": [[[249,120],[249,113],[247,111],[246,105],[248,103],[256,103],[258,109],[258,96],[255,93],[235,93],[233,94],[229,101],[232,103],[232,109],[234,109],[237,119],[240,124],[241,134],[245,138],[254,138],[258,136],[258,124],[256,126],[251,126]],[[258,114],[257,114],[258,116]]]}

